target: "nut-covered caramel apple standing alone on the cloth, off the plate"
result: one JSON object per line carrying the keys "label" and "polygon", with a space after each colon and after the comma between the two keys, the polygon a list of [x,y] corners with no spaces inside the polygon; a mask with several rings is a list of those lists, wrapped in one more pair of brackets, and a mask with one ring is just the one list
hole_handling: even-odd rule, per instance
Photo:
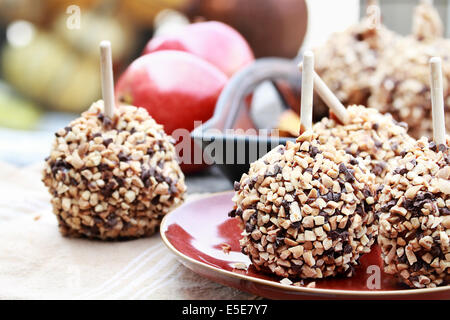
{"label": "nut-covered caramel apple standing alone on the cloth, off the plate", "polygon": [[43,181],[63,235],[103,240],[153,234],[186,189],[163,127],[133,106],[109,118],[103,101],[56,133]]}

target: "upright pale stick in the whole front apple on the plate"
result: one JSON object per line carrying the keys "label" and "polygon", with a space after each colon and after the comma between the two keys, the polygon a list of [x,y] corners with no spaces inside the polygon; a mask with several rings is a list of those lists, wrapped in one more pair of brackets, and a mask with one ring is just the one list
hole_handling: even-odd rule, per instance
{"label": "upright pale stick in the whole front apple on the plate", "polygon": [[314,95],[314,53],[303,55],[302,97],[300,105],[300,131],[312,129]]}

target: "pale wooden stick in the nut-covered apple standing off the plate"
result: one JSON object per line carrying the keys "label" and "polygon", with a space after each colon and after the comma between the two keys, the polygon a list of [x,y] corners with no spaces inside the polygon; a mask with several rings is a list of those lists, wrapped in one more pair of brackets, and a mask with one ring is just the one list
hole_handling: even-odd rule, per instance
{"label": "pale wooden stick in the nut-covered apple standing off the plate", "polygon": [[114,78],[112,70],[111,42],[107,40],[100,42],[100,66],[105,115],[112,119],[114,115]]}

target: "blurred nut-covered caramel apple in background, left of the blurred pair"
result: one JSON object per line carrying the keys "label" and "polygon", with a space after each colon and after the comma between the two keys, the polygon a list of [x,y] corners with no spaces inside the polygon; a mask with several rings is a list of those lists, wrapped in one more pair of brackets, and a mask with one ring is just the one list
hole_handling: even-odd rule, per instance
{"label": "blurred nut-covered caramel apple in background, left of the blurred pair", "polygon": [[[379,23],[379,10],[378,6],[370,6],[358,24],[334,33],[314,50],[317,74],[344,105],[367,105],[378,61],[398,38]],[[326,106],[315,108],[327,114]]]}

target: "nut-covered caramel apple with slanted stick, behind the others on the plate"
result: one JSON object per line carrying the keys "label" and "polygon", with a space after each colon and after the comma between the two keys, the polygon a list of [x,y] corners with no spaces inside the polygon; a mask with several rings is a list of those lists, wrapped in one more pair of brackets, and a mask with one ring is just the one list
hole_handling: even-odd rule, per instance
{"label": "nut-covered caramel apple with slanted stick, behind the others on the plate", "polygon": [[361,157],[381,184],[415,140],[407,134],[408,126],[396,122],[390,114],[357,105],[349,106],[346,113],[347,124],[323,118],[313,129],[322,144],[332,142],[336,149]]}

